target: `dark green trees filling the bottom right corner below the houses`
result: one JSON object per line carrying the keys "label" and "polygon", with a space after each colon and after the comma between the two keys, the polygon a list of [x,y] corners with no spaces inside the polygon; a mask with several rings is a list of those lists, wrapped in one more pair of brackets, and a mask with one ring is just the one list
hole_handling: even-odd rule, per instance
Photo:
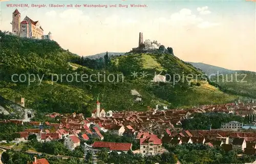
{"label": "dark green trees filling the bottom right corner below the houses", "polygon": [[169,151],[177,154],[182,164],[206,163],[247,163],[255,160],[255,155],[238,156],[240,151],[224,151],[221,147],[209,147],[203,144],[164,145]]}

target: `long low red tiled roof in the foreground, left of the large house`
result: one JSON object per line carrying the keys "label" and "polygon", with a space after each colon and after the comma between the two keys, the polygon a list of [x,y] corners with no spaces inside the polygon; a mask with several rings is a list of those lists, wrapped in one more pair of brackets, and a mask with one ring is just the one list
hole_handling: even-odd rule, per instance
{"label": "long low red tiled roof in the foreground, left of the large house", "polygon": [[94,142],[94,148],[109,148],[115,151],[129,151],[131,150],[131,143],[110,143],[110,142]]}

